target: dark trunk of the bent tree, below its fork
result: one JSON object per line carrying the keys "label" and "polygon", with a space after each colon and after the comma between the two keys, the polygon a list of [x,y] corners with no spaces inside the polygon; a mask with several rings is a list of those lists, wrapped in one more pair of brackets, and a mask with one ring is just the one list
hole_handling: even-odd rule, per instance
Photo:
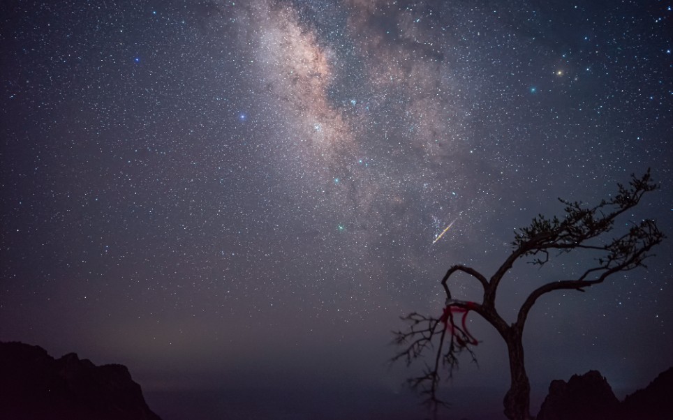
{"label": "dark trunk of the bent tree, below its fork", "polygon": [[510,390],[505,394],[505,416],[510,420],[531,420],[531,384],[524,366],[522,329],[510,327],[505,336],[510,356]]}

